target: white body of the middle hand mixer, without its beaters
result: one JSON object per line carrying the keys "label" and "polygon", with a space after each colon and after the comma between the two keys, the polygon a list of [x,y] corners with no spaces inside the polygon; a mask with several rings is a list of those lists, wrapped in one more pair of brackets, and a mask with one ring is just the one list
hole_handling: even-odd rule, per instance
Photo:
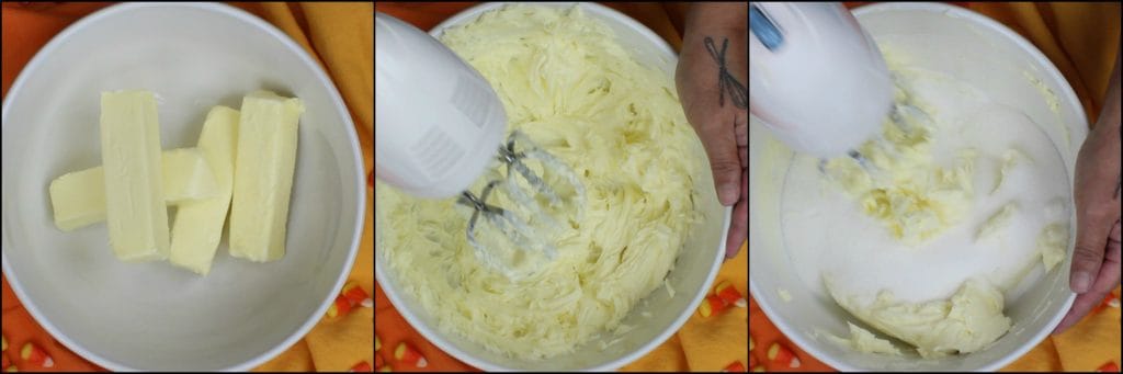
{"label": "white body of the middle hand mixer, without its beaters", "polygon": [[375,175],[422,198],[457,195],[494,159],[503,104],[429,34],[381,12],[374,21]]}

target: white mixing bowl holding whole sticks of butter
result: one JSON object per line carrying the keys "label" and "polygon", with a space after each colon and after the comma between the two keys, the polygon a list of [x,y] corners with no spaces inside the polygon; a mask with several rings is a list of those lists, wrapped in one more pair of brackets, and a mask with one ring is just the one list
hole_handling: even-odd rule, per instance
{"label": "white mixing bowl holding whole sticks of butter", "polygon": [[[104,224],[55,228],[47,185],[101,164],[100,93],[130,88],[158,95],[164,149],[194,146],[212,106],[254,90],[304,101],[284,258],[236,259],[223,239],[200,277],[119,262]],[[343,100],[299,45],[229,6],[130,3],[75,22],[12,84],[2,138],[4,275],[51,335],[109,370],[249,370],[320,320],[357,253],[366,189]]]}

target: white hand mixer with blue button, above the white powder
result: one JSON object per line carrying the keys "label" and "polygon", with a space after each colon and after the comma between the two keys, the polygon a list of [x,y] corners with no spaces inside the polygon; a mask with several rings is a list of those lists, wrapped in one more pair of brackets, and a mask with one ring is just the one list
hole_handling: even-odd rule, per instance
{"label": "white hand mixer with blue button, above the white powder", "polygon": [[893,83],[874,40],[839,3],[749,3],[749,102],[777,138],[819,157],[847,154],[891,115]]}

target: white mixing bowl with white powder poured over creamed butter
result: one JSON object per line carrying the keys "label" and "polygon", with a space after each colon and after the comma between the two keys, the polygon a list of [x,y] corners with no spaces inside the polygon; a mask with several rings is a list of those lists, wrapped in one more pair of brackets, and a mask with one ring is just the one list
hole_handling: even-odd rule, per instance
{"label": "white mixing bowl with white powder poured over creamed butter", "polygon": [[[1057,146],[1071,182],[1087,120],[1068,82],[1029,42],[989,18],[948,4],[882,3],[853,12],[870,36],[878,43],[892,43],[895,51],[912,57],[912,64],[950,74],[997,102],[1023,110]],[[1057,112],[1050,110],[1050,101],[1059,103]],[[800,264],[786,254],[779,220],[779,197],[792,153],[786,147],[768,146],[775,139],[756,120],[750,131],[749,289],[788,338],[828,365],[843,371],[994,371],[1044,339],[1072,303],[1075,294],[1068,288],[1070,238],[1068,257],[1058,268],[1040,283],[1030,284],[1020,298],[1006,300],[1005,312],[1013,328],[988,349],[922,361],[862,354],[818,337],[816,329],[849,336],[846,321],[856,319],[796,276]],[[1075,222],[1074,217],[1070,220]],[[1041,266],[1034,273],[1040,274]],[[779,290],[788,291],[791,301],[783,301]]]}

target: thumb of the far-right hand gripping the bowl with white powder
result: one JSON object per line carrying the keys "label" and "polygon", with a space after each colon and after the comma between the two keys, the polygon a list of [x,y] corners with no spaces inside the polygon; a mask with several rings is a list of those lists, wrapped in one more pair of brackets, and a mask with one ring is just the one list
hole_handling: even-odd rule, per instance
{"label": "thumb of the far-right hand gripping the bowl with white powder", "polygon": [[1096,274],[1099,274],[1099,266],[1104,263],[1104,247],[1107,246],[1107,234],[1112,227],[1102,219],[1087,216],[1078,217],[1077,224],[1069,286],[1072,292],[1085,293],[1092,289],[1092,281],[1096,279]]}

